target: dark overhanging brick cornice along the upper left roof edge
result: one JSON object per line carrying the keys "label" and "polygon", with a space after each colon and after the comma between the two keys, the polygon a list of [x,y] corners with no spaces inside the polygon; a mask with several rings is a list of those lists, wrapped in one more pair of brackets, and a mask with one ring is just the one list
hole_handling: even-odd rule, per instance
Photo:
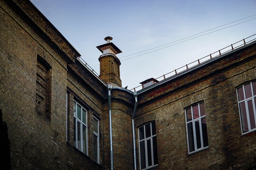
{"label": "dark overhanging brick cornice along the upper left roof edge", "polygon": [[4,0],[37,34],[46,41],[67,63],[81,54],[67,41],[57,28],[30,0]]}

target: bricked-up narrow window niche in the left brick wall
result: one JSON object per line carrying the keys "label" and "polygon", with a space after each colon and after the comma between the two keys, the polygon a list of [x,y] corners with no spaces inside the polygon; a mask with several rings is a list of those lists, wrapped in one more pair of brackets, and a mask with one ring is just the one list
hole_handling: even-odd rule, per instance
{"label": "bricked-up narrow window niche in the left brick wall", "polygon": [[50,66],[40,56],[37,57],[36,110],[50,118]]}

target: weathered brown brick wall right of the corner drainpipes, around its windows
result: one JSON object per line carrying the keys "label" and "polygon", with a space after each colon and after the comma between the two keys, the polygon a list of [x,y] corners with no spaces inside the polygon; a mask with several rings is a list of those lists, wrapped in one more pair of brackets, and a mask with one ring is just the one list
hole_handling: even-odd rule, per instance
{"label": "weathered brown brick wall right of the corner drainpipes, around its windows", "polygon": [[[254,44],[139,94],[137,127],[151,120],[156,123],[159,165],[155,169],[256,166],[256,135],[241,136],[236,94],[238,85],[256,79],[255,56]],[[184,108],[201,101],[205,104],[209,148],[188,155]]]}

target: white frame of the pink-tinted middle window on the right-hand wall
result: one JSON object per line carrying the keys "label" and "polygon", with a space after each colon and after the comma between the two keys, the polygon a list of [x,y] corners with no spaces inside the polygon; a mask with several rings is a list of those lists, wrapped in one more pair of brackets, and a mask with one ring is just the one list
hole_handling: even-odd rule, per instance
{"label": "white frame of the pink-tinted middle window on the right-hand wall", "polygon": [[[191,106],[187,107],[185,109],[185,120],[186,120],[186,136],[187,136],[187,143],[188,143],[188,153],[189,154],[192,154],[192,153],[197,153],[197,152],[200,152],[202,150],[205,150],[207,148],[209,148],[209,141],[208,141],[208,133],[207,133],[207,141],[208,141],[208,145],[203,147],[204,144],[203,144],[203,134],[202,134],[202,123],[201,123],[201,119],[202,118],[205,118],[206,119],[206,113],[201,116],[201,110],[200,110],[200,104],[201,103],[204,103],[204,102],[198,102],[196,104],[192,104]],[[199,117],[194,119],[193,118],[193,106],[198,106],[198,112],[199,112]],[[187,121],[187,109],[191,109],[191,119],[190,121]],[[204,107],[205,109],[205,107]],[[197,148],[197,139],[196,139],[196,130],[195,130],[195,122],[196,121],[199,121],[199,129],[200,129],[200,139],[201,139],[201,148]],[[190,152],[189,151],[189,137],[188,137],[188,124],[192,122],[192,129],[193,129],[193,142],[194,142],[194,151]],[[207,123],[206,123],[206,130],[207,130]]]}

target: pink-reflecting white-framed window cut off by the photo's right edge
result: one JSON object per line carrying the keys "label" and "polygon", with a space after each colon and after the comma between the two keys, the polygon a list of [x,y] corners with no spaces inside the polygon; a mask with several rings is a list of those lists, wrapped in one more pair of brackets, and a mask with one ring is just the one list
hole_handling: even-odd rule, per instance
{"label": "pink-reflecting white-framed window cut off by the photo's right edge", "polygon": [[256,130],[256,81],[237,89],[242,134]]}

